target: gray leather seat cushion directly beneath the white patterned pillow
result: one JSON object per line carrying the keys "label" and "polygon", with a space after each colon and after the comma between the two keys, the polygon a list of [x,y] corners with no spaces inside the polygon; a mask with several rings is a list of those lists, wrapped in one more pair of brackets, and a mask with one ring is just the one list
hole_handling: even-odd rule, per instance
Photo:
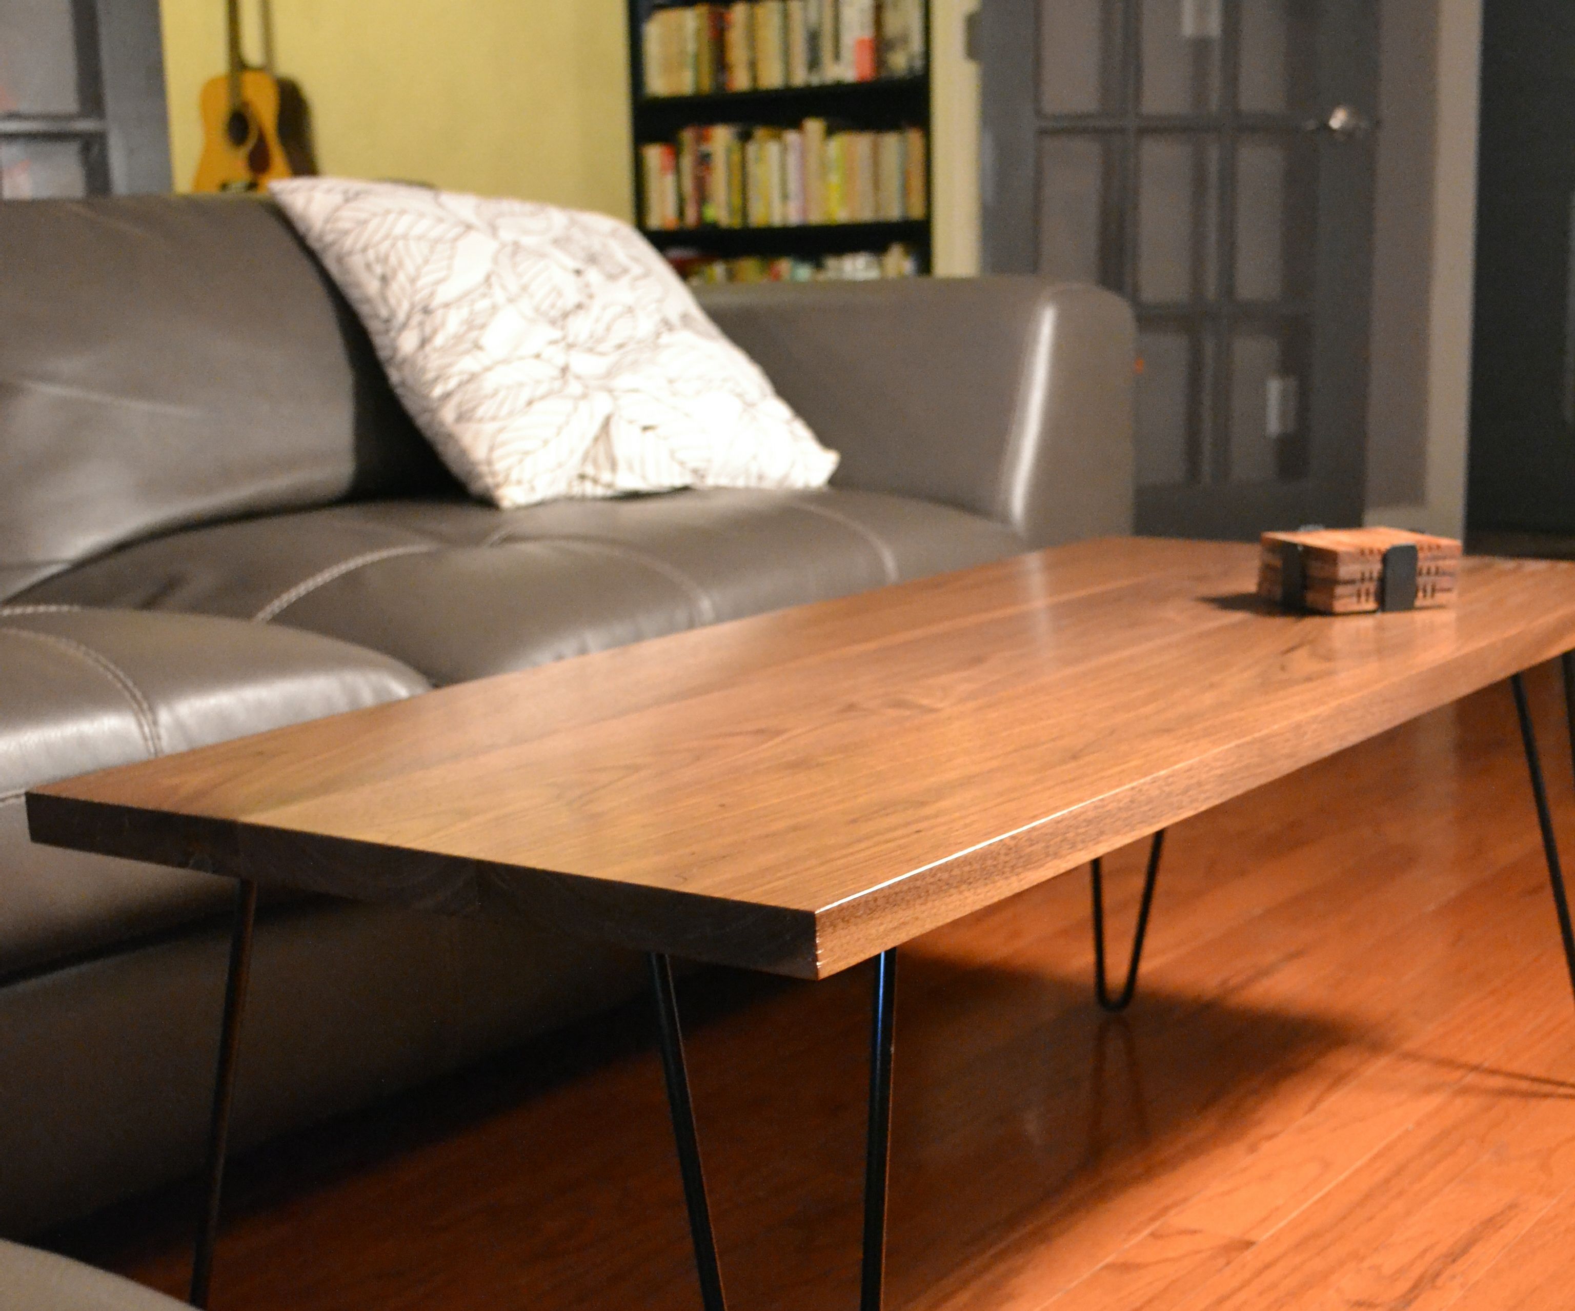
{"label": "gray leather seat cushion directly beneath the white patterned pillow", "polygon": [[380,501],[140,542],[19,600],[288,624],[449,684],[1022,550],[978,515],[841,488]]}

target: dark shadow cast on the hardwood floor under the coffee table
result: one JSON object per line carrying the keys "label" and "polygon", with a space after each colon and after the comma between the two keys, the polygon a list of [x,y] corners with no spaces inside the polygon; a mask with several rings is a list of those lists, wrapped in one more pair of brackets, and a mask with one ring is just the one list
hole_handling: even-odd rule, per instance
{"label": "dark shadow cast on the hardwood floor under the coffee table", "polygon": [[[690,1073],[729,1298],[857,1305],[868,967],[817,985],[682,982]],[[232,1171],[214,1305],[688,1308],[676,1163],[644,1002]],[[893,1305],[1013,1234],[1244,1131],[1276,1081],[1370,1037],[1307,1015],[1140,990],[1106,1016],[1084,979],[904,952]],[[192,1188],[52,1246],[178,1292]]]}

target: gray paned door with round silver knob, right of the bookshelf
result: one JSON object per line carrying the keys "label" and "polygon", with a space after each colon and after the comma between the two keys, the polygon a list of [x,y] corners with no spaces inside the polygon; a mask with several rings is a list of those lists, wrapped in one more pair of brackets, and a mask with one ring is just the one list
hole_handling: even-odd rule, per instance
{"label": "gray paned door with round silver knob, right of the bookshelf", "polygon": [[1375,0],[983,0],[984,266],[1139,320],[1137,526],[1361,522]]}

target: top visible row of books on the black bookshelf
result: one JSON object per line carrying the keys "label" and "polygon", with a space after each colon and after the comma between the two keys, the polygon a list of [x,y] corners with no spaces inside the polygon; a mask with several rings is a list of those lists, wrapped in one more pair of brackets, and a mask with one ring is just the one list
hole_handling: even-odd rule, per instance
{"label": "top visible row of books on the black bookshelf", "polygon": [[657,9],[647,96],[871,82],[923,72],[925,0],[732,0]]}

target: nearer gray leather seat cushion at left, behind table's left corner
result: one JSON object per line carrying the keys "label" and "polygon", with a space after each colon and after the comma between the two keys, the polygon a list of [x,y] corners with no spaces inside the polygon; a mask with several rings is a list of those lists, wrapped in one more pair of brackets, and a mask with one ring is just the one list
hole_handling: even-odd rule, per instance
{"label": "nearer gray leather seat cushion at left, behind table's left corner", "polygon": [[343,641],[200,615],[0,607],[0,977],[213,914],[227,879],[35,846],[24,789],[425,690]]}

